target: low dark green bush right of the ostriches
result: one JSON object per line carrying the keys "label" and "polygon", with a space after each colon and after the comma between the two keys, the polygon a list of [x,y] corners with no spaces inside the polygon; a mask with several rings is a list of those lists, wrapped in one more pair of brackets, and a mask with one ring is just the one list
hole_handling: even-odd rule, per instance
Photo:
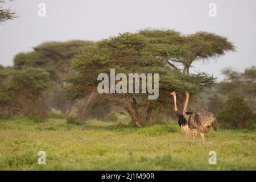
{"label": "low dark green bush right of the ostriches", "polygon": [[218,119],[232,123],[233,126],[242,128],[242,123],[254,117],[253,110],[241,98],[234,97],[228,100]]}

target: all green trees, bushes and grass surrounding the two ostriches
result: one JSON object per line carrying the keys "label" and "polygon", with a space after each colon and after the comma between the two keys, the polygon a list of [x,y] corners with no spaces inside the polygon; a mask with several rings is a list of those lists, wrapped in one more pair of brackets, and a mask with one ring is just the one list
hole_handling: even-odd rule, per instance
{"label": "all green trees, bushes and grass surrounding the two ostriches", "polygon": [[[0,169],[256,169],[256,67],[224,69],[221,82],[190,72],[195,61],[229,51],[234,45],[210,32],[146,29],[18,53],[12,67],[0,65]],[[158,99],[99,94],[97,76],[110,68],[159,73]],[[182,135],[173,91],[179,107],[188,91],[191,110],[216,115],[220,129],[205,145]],[[38,151],[47,165],[38,164]]]}

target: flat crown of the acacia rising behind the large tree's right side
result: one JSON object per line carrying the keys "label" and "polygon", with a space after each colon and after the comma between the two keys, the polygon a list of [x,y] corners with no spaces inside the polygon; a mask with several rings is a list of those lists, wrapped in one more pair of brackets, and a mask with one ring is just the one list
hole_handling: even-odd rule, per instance
{"label": "flat crown of the acacia rising behind the large tree's right side", "polygon": [[158,45],[158,56],[177,71],[189,74],[189,68],[195,61],[205,61],[212,57],[234,51],[234,46],[227,38],[209,32],[181,35],[174,30],[151,30],[139,32],[150,43]]}

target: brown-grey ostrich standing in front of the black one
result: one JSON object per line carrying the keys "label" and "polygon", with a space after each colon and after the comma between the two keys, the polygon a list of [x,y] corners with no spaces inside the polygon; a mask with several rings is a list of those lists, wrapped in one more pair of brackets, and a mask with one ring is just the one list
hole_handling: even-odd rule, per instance
{"label": "brown-grey ostrich standing in front of the black one", "polygon": [[217,119],[214,117],[214,114],[208,110],[198,109],[192,114],[187,114],[187,107],[188,107],[188,100],[189,100],[189,93],[186,92],[186,101],[183,110],[183,116],[187,119],[188,127],[190,129],[195,129],[199,131],[202,142],[205,143],[204,134],[208,133],[210,127],[213,127],[214,131],[218,130],[218,122]]}

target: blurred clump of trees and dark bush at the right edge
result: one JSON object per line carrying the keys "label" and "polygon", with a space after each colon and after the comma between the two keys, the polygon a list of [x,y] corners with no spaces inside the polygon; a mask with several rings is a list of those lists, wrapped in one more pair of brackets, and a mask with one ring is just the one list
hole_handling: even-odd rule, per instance
{"label": "blurred clump of trees and dark bush at the right edge", "polygon": [[201,104],[218,115],[228,126],[242,128],[255,124],[256,110],[256,67],[243,72],[233,68],[222,70],[224,81],[201,93]]}

